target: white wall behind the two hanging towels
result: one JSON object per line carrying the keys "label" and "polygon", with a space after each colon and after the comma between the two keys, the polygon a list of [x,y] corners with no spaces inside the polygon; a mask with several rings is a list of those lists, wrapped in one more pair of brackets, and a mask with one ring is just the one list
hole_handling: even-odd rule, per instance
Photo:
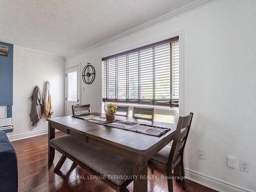
{"label": "white wall behind the two hanging towels", "polygon": [[51,87],[53,117],[64,115],[64,59],[47,53],[14,45],[13,63],[13,125],[10,140],[47,133],[48,122],[42,117],[36,127],[31,125],[31,95],[34,87],[45,92],[45,82]]}

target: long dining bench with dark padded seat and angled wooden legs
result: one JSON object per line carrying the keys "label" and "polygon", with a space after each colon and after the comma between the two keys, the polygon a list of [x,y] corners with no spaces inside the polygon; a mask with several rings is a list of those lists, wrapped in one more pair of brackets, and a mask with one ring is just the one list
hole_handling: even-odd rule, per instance
{"label": "long dining bench with dark padded seat and angled wooden legs", "polygon": [[54,172],[69,158],[92,175],[101,176],[100,180],[116,191],[128,191],[126,186],[133,181],[131,161],[70,135],[56,137],[49,141],[49,145],[62,154]]}

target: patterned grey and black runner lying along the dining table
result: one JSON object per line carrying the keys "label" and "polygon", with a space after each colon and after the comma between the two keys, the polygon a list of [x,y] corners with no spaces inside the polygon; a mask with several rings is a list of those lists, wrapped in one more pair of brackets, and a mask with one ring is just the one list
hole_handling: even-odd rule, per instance
{"label": "patterned grey and black runner lying along the dining table", "polygon": [[111,127],[122,129],[122,130],[142,133],[145,135],[151,135],[155,137],[161,137],[166,132],[170,131],[170,128],[166,128],[166,127],[123,121],[119,119],[115,119],[114,121],[106,121],[105,117],[100,117],[96,115],[75,116],[74,118],[86,120],[93,123],[108,125]]}

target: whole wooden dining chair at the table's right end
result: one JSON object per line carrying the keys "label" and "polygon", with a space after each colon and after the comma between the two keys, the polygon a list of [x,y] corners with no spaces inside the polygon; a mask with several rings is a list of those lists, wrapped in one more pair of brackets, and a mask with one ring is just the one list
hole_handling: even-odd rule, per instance
{"label": "whole wooden dining chair at the table's right end", "polygon": [[[172,171],[177,168],[180,177],[184,177],[184,148],[187,136],[190,130],[193,113],[187,116],[179,117],[175,137],[172,146],[166,145],[155,156],[148,160],[148,165],[151,167],[151,172],[154,173],[154,167],[160,168],[167,172],[168,191],[173,192]],[[175,172],[176,173],[176,172]],[[184,178],[181,179],[182,188],[185,190]]]}

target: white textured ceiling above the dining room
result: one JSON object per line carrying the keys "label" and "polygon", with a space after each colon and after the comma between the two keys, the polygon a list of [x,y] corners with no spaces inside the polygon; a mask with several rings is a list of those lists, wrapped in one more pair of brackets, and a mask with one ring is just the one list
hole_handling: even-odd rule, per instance
{"label": "white textured ceiling above the dining room", "polygon": [[2,0],[0,41],[60,56],[205,0]]}

